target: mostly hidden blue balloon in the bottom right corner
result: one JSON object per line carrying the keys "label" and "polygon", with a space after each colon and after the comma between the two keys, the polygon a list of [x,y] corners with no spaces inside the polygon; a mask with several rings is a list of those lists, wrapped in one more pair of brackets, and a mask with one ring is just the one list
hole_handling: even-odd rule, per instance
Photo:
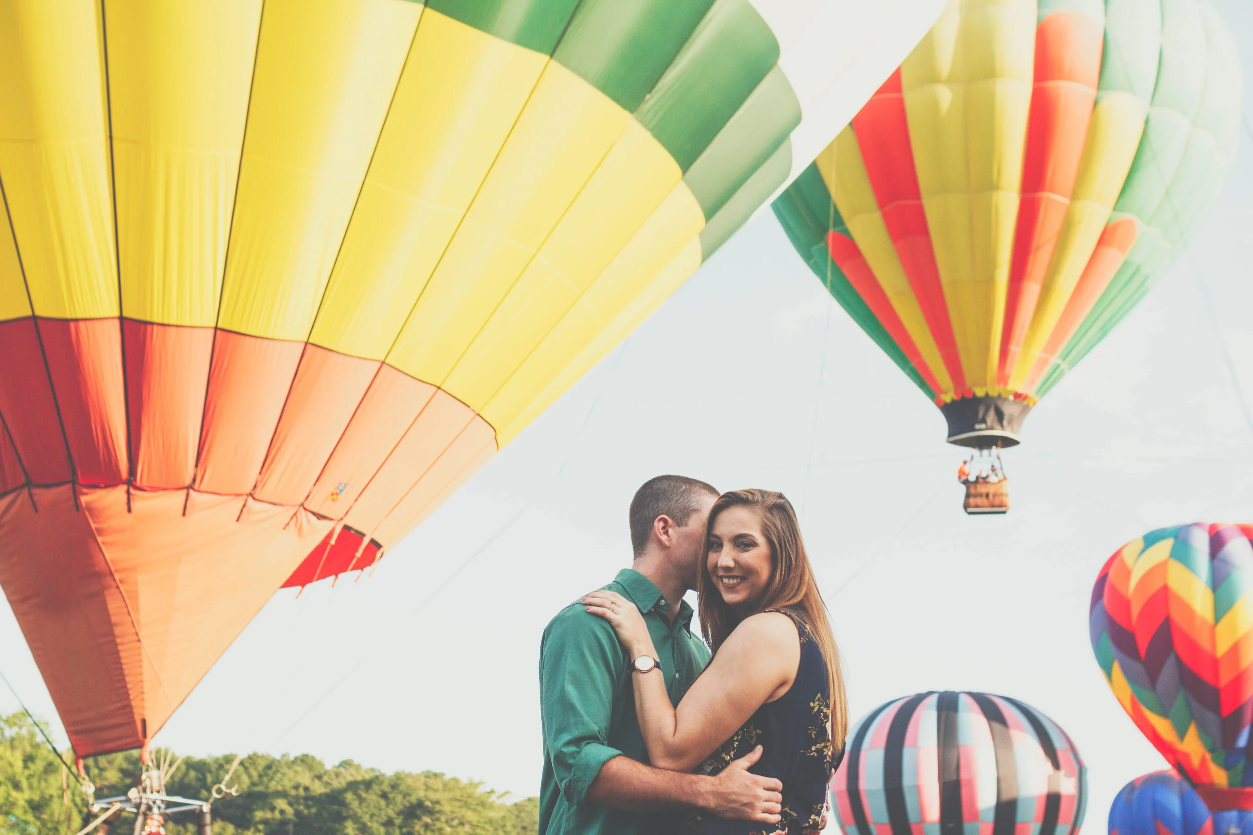
{"label": "mostly hidden blue balloon in the bottom right corner", "polygon": [[1154,771],[1123,786],[1109,807],[1109,835],[1253,835],[1253,815],[1210,814],[1175,771]]}

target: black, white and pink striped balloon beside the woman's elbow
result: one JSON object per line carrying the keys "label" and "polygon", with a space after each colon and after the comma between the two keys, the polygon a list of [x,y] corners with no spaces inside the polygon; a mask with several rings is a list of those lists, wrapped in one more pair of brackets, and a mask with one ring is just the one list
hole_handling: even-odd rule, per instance
{"label": "black, white and pink striped balloon beside the woman's elbow", "polygon": [[981,692],[932,691],[880,705],[853,726],[831,781],[831,806],[847,835],[933,825],[1074,835],[1086,796],[1086,770],[1065,731],[1029,705]]}

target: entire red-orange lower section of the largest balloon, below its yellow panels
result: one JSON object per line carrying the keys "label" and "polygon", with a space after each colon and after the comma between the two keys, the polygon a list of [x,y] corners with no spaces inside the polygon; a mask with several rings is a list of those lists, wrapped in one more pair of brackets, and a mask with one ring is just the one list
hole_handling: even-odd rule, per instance
{"label": "entire red-orange lower section of the largest balloon, below its yellow panels", "polygon": [[80,756],[142,745],[274,588],[371,566],[496,451],[316,346],[28,318],[0,347],[0,585]]}

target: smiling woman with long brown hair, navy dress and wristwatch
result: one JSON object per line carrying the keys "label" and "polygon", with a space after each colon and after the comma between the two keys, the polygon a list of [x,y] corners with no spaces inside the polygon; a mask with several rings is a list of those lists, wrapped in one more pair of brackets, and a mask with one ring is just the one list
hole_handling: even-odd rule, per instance
{"label": "smiling woman with long brown hair, navy dress and wristwatch", "polygon": [[[792,505],[763,489],[723,493],[709,512],[703,556],[697,591],[709,666],[677,709],[659,669],[632,674],[648,756],[660,769],[717,774],[762,745],[753,771],[783,782],[783,802],[764,827],[688,812],[675,829],[816,834],[826,825],[827,782],[848,712],[840,652]],[[583,602],[613,625],[632,661],[657,657],[629,600],[595,591]]]}

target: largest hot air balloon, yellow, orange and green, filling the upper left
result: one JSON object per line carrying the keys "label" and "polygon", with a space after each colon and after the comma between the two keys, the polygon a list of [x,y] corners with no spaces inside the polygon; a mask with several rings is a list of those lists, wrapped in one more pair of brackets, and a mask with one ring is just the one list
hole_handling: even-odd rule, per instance
{"label": "largest hot air balloon, yellow, orange and green, filling the upper left", "polygon": [[850,5],[0,3],[0,586],[78,755],[377,561],[940,11]]}

